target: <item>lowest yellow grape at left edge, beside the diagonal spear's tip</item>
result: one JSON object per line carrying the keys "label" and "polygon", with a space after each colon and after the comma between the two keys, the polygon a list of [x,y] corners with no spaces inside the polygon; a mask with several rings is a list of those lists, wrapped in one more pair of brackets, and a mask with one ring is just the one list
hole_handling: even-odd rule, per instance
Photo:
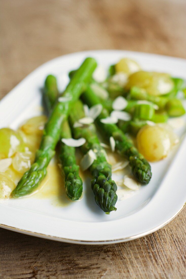
{"label": "lowest yellow grape at left edge, beside the diagonal spear's tip", "polygon": [[4,173],[0,173],[0,198],[8,198],[14,189],[14,182]]}

